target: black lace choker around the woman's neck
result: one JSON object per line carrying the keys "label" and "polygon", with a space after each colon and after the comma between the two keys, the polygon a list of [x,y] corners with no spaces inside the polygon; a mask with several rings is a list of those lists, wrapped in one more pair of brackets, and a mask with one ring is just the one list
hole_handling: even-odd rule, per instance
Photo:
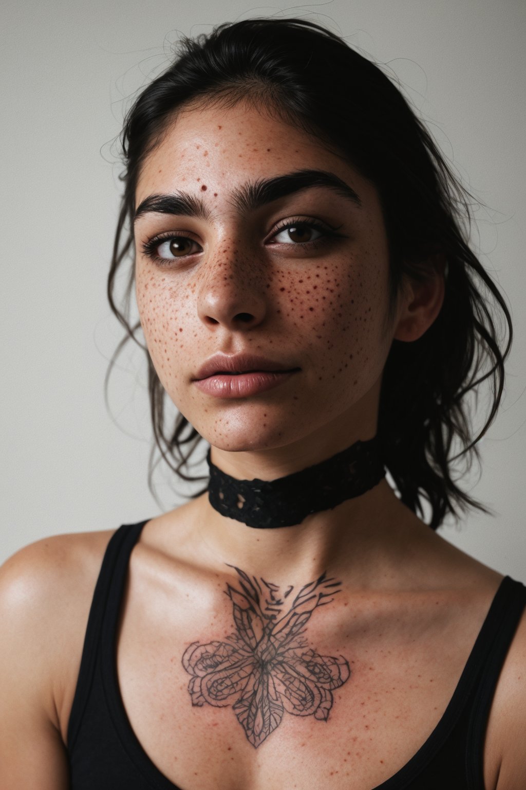
{"label": "black lace choker around the woman's neck", "polygon": [[207,463],[211,506],[256,529],[300,524],[311,513],[332,510],[345,499],[364,494],[386,474],[376,436],[277,480],[237,480],[212,464],[210,450]]}

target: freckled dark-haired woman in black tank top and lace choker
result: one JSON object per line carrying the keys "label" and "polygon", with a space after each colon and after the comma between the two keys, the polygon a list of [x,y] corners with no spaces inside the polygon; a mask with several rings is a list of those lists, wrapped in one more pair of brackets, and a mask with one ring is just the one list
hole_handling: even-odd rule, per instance
{"label": "freckled dark-haired woman in black tank top and lace choker", "polygon": [[453,442],[511,324],[431,137],[337,36],[251,20],[122,141],[110,303],[134,250],[155,437],[210,482],[3,566],[2,788],[524,787],[526,592],[435,532],[481,508]]}

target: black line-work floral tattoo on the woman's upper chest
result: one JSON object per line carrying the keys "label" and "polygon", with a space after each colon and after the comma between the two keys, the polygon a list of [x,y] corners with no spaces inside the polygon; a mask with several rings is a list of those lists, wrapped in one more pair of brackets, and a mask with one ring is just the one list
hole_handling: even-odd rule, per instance
{"label": "black line-work floral tattoo on the woman's upper chest", "polygon": [[192,675],[192,705],[232,705],[257,748],[278,727],[285,710],[326,721],[332,691],[349,679],[343,656],[320,656],[302,636],[312,612],[334,600],[341,582],[323,573],[292,600],[292,586],[280,595],[278,585],[263,578],[259,584],[256,577],[229,567],[236,570],[241,587],[226,585],[236,630],[225,641],[192,642],[182,664]]}

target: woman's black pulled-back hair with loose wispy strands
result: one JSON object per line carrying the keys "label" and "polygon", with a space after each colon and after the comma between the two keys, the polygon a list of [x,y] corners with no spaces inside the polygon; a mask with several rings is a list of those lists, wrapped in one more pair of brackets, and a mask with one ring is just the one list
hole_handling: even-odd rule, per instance
{"label": "woman's black pulled-back hair with loose wispy strands", "polygon": [[[300,19],[250,19],[181,40],[177,57],[140,93],[125,119],[124,194],[108,298],[127,334],[108,374],[130,338],[146,351],[155,436],[148,476],[152,493],[155,445],[181,479],[203,480],[182,471],[188,470],[201,437],[181,414],[165,425],[164,389],[147,349],[136,339],[140,322],[130,325],[133,267],[122,310],[114,300],[116,274],[133,251],[136,183],[145,157],[182,107],[233,106],[241,100],[315,135],[375,185],[390,251],[389,318],[403,278],[425,280],[433,273],[432,261],[445,259],[446,293],[438,318],[420,339],[394,340],[390,348],[382,376],[379,441],[401,501],[423,515],[426,499],[432,529],[446,513],[458,517],[458,508],[488,513],[457,487],[453,463],[462,458],[470,468],[474,457],[479,460],[476,442],[498,410],[513,331],[501,293],[469,247],[472,196],[379,66],[332,32]],[[508,327],[503,351],[497,332],[502,316]],[[474,437],[468,395],[486,380],[491,406]],[[458,443],[461,450],[452,457]]]}

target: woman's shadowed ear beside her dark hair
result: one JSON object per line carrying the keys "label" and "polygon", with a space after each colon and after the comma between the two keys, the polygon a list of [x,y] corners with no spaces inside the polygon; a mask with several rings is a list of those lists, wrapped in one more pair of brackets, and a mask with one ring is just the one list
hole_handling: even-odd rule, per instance
{"label": "woman's shadowed ear beside her dark hair", "polygon": [[428,276],[423,282],[408,279],[399,300],[394,340],[418,340],[435,321],[446,292],[446,259],[435,255],[428,261]]}

